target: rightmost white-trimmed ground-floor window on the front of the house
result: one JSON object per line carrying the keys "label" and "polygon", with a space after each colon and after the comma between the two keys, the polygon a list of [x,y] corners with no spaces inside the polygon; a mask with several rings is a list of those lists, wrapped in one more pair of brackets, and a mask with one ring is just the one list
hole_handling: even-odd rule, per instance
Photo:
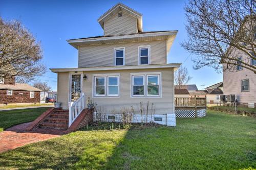
{"label": "rightmost white-trimmed ground-floor window on the front of the house", "polygon": [[159,75],[147,76],[147,95],[159,95]]}

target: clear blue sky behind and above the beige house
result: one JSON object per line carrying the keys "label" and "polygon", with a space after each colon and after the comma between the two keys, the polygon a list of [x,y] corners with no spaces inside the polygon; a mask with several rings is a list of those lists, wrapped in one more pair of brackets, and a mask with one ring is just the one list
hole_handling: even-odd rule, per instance
{"label": "clear blue sky behind and above the beige house", "polygon": [[[38,41],[41,41],[48,68],[77,67],[77,50],[67,39],[99,36],[103,34],[97,19],[117,3],[123,3],[143,14],[143,31],[178,30],[168,54],[168,63],[182,62],[193,77],[190,84],[202,89],[222,81],[222,74],[213,68],[194,70],[190,55],[180,42],[186,39],[186,1],[0,1],[0,16],[5,20],[19,19]],[[157,2],[157,3],[156,3]],[[153,12],[154,11],[154,12]],[[88,24],[89,23],[89,24]],[[47,82],[56,90],[57,75],[48,70],[37,80]]]}

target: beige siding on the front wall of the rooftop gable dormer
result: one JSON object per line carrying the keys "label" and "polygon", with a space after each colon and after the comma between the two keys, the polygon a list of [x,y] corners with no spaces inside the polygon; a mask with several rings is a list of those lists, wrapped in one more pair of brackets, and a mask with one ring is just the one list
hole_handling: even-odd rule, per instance
{"label": "beige siding on the front wall of the rooftop gable dormer", "polygon": [[104,35],[122,35],[136,34],[137,19],[125,12],[122,12],[122,17],[118,18],[118,13],[104,22]]}

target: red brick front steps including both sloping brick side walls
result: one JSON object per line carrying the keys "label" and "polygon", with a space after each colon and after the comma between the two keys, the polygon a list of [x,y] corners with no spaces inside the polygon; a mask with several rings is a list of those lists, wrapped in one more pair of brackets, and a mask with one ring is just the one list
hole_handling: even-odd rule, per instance
{"label": "red brick front steps including both sloping brick side walls", "polygon": [[32,131],[36,128],[41,129],[62,129],[67,130],[65,133],[76,131],[93,121],[93,111],[91,109],[83,109],[69,128],[69,110],[48,109],[35,119],[25,130]]}

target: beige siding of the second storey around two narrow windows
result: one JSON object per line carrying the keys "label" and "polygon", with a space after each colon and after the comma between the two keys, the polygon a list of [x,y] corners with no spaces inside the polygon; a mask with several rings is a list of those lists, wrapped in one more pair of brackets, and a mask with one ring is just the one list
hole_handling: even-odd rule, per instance
{"label": "beige siding of the second storey around two narrow windows", "polygon": [[166,41],[142,41],[79,47],[78,67],[114,66],[114,48],[125,47],[125,65],[138,65],[139,46],[151,46],[151,64],[166,64]]}

